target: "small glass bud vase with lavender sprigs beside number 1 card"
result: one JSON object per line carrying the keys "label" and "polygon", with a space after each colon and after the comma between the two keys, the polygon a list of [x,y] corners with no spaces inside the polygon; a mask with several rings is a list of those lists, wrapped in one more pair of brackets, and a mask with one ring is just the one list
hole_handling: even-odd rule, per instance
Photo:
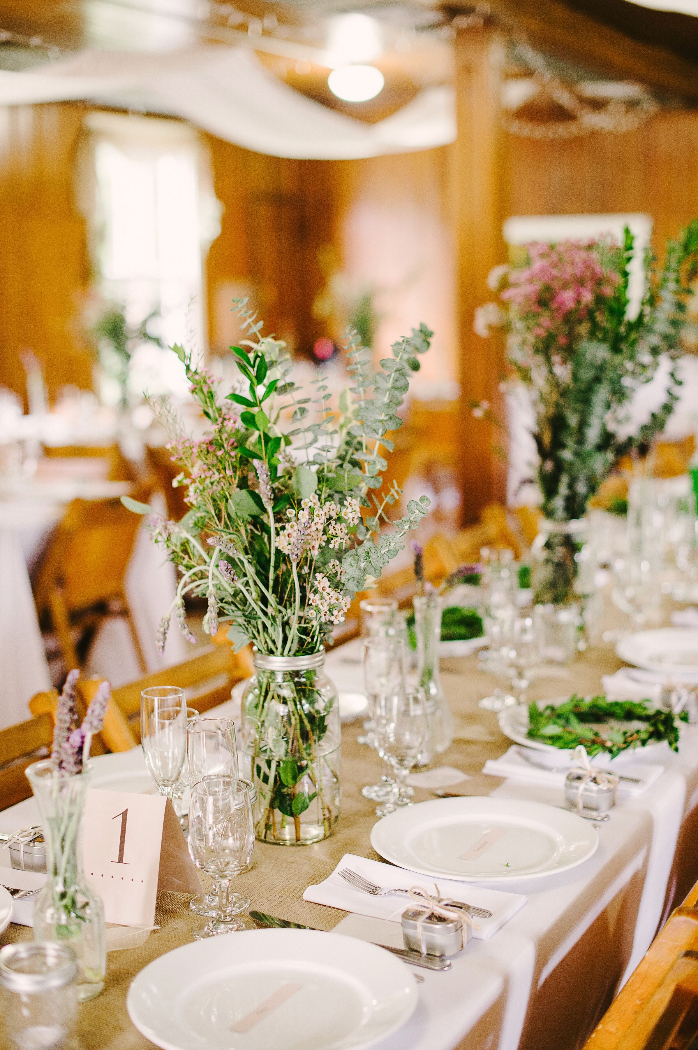
{"label": "small glass bud vase with lavender sprigs beside number 1 card", "polygon": [[89,786],[92,736],[102,729],[111,692],[102,682],[82,726],[77,727],[71,671],[60,696],[51,757],[26,771],[46,842],[46,882],[34,906],[34,936],[73,949],[79,963],[78,996],[93,999],[104,986],[107,948],[102,901],[85,882],[80,864],[80,825]]}

